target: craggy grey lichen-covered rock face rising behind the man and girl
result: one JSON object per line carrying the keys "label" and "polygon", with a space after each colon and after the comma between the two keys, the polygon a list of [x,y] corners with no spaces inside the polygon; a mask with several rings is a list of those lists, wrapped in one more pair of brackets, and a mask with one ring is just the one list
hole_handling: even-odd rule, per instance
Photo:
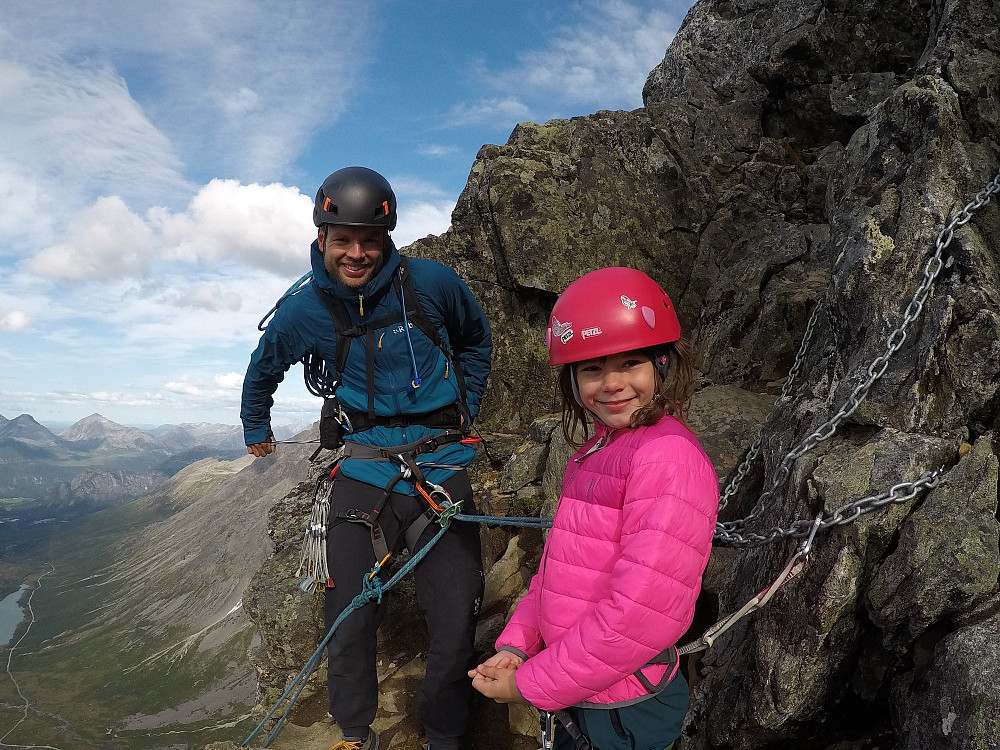
{"label": "craggy grey lichen-covered rock face rising behind the man and girl", "polygon": [[[452,228],[409,249],[454,266],[493,323],[481,423],[511,461],[477,473],[491,512],[551,512],[567,450],[536,422],[554,405],[544,323],[577,276],[628,265],[663,284],[696,346],[692,421],[721,477],[763,425],[729,528],[828,519],[802,577],[687,661],[683,748],[1000,747],[998,202],[934,258],[1000,170],[997,27],[987,0],[703,0],[643,109],[519,125],[480,151]],[[308,512],[283,502],[284,519]],[[537,547],[484,533],[503,571],[485,650]],[[797,545],[758,538],[718,547],[699,619],[742,606]],[[286,583],[265,568],[254,584],[277,585],[271,599],[248,597],[258,623],[291,601],[281,564]],[[262,703],[311,651],[281,627],[262,632]]]}

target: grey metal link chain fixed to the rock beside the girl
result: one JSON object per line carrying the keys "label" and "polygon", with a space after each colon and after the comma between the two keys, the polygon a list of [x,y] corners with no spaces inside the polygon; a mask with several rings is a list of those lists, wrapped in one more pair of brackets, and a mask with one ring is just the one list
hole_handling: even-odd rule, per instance
{"label": "grey metal link chain fixed to the rock beside the girl", "polygon": [[[903,312],[903,320],[889,335],[889,338],[886,341],[885,351],[876,357],[875,360],[868,366],[868,376],[861,383],[859,383],[853,391],[851,391],[851,395],[843,403],[840,409],[837,410],[836,414],[810,433],[801,443],[799,443],[798,446],[790,450],[781,460],[781,463],[778,464],[778,467],[772,477],[770,488],[761,494],[753,511],[751,511],[749,515],[742,519],[716,524],[716,540],[733,545],[766,544],[778,538],[801,536],[803,533],[803,526],[807,527],[806,533],[808,533],[808,527],[813,523],[811,520],[795,521],[785,529],[772,529],[771,532],[764,535],[740,534],[739,530],[743,529],[746,524],[761,515],[766,501],[770,499],[777,489],[787,481],[792,463],[820,443],[833,437],[840,423],[854,413],[854,411],[865,400],[865,397],[868,395],[868,392],[871,390],[875,382],[881,378],[883,374],[885,374],[886,369],[889,367],[890,357],[899,351],[899,349],[903,346],[903,342],[906,341],[906,329],[917,317],[920,316],[920,313],[923,311],[924,304],[927,302],[927,298],[930,295],[931,287],[933,286],[938,274],[941,273],[941,269],[944,267],[941,256],[945,248],[951,244],[951,241],[954,238],[955,229],[967,224],[972,219],[973,214],[989,203],[991,196],[996,193],[1000,193],[1000,173],[988,182],[986,186],[976,194],[976,197],[966,204],[938,234],[937,240],[934,243],[934,254],[924,264],[924,277],[917,286],[917,289],[913,294],[913,298],[910,300],[910,303],[906,306],[906,309]],[[817,304],[817,309],[819,307],[820,305]],[[815,317],[816,310],[813,312]],[[810,325],[814,323],[814,318],[810,318]],[[792,370],[789,372],[789,379],[785,383],[788,392],[786,393],[786,388],[782,388],[782,395],[779,397],[779,400],[786,399],[788,397],[788,393],[790,393],[789,381],[791,381],[793,374],[798,374],[798,368],[801,367],[802,360],[804,359],[805,344],[812,336],[810,325],[806,326],[806,333],[803,335],[803,345],[799,347],[799,353],[796,355],[795,363]],[[770,419],[771,416],[769,415],[768,419],[765,420],[765,425],[770,421]],[[754,460],[760,452],[760,441],[761,437],[760,434],[758,434],[757,439],[751,445],[750,450],[747,453],[747,458],[740,464],[733,481],[730,482],[729,486],[726,488],[723,495],[725,502],[720,501],[720,509],[725,507],[725,503],[728,503],[729,499],[739,489],[739,483],[749,471],[750,462]],[[936,486],[937,476],[939,474],[940,470],[930,474],[925,472],[914,482],[904,482],[902,484],[893,485],[893,487],[889,490],[889,493],[883,493],[882,495],[870,496],[868,498],[862,498],[861,500],[854,501],[824,519],[821,522],[820,527],[826,528],[827,526],[833,525],[833,523],[850,523],[863,513],[869,513],[888,502],[902,502],[902,500],[893,499],[879,500],[879,498],[889,497],[891,493],[899,492],[902,489],[907,489],[908,492],[904,499],[915,497],[917,492]],[[929,476],[934,477],[933,485],[929,485],[926,482],[926,478]],[[844,511],[847,508],[851,508],[852,515],[843,520],[832,520],[839,518],[841,511]]]}

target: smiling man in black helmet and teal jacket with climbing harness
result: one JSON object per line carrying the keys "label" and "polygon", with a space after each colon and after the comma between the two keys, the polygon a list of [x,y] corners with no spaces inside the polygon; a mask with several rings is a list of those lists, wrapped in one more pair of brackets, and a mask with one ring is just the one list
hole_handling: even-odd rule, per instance
{"label": "smiling man in black helmet and teal jacket with climbing harness", "polygon": [[[347,440],[330,500],[329,628],[384,562],[383,551],[405,543],[415,552],[441,528],[425,525],[431,504],[450,499],[471,510],[464,467],[475,454],[461,438],[479,411],[492,338],[452,269],[400,256],[389,236],[396,198],[377,172],[347,167],[331,174],[316,194],[313,221],[312,283],[277,305],[250,359],[241,418],[247,451],[271,453],[272,396],[302,361],[310,390],[326,397],[323,423]],[[328,447],[339,442],[323,439]],[[421,720],[429,748],[459,750],[483,591],[477,524],[452,522],[414,575],[430,631]],[[352,612],[330,641],[330,713],[344,737],[331,750],[379,748],[371,729],[377,615],[374,604]]]}

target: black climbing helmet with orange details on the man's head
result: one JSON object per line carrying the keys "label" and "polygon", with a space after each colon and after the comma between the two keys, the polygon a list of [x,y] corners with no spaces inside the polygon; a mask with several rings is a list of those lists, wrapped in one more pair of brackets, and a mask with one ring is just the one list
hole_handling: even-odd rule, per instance
{"label": "black climbing helmet with orange details on the man's head", "polygon": [[396,196],[389,181],[367,167],[344,167],[327,177],[316,193],[313,223],[396,228]]}

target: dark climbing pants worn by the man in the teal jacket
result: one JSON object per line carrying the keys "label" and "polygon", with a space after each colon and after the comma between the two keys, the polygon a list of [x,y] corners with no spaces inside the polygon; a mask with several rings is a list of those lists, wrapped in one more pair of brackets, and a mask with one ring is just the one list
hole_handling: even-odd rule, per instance
{"label": "dark climbing pants worn by the man in the teal jacket", "polygon": [[[472,508],[468,475],[459,472],[444,482],[453,500]],[[325,592],[324,614],[329,630],[340,613],[361,592],[364,576],[375,564],[367,526],[338,520],[338,511],[371,511],[384,490],[347,477],[338,477],[330,498],[327,559],[333,588]],[[423,513],[425,502],[392,493],[379,515],[379,526],[390,550],[398,551],[410,524]],[[419,550],[440,531],[431,523],[420,535]],[[411,550],[413,552],[415,550]],[[469,725],[475,666],[476,618],[483,596],[483,564],[479,525],[453,521],[413,571],[417,601],[427,622],[430,645],[427,672],[420,691],[420,718],[435,750],[459,750]],[[330,713],[345,736],[364,736],[378,708],[375,631],[380,607],[374,602],[355,610],[330,639],[327,684]]]}

